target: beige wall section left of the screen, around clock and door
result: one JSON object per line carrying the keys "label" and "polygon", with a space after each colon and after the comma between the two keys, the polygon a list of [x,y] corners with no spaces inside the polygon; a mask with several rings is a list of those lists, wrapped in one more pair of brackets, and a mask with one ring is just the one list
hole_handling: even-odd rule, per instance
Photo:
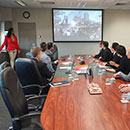
{"label": "beige wall section left of the screen, around clock and door", "polygon": [[[29,11],[30,18],[25,19],[23,12]],[[31,22],[36,23],[37,43],[40,41],[40,36],[44,41],[52,41],[52,24],[50,9],[13,9],[13,27],[18,35],[18,23]]]}

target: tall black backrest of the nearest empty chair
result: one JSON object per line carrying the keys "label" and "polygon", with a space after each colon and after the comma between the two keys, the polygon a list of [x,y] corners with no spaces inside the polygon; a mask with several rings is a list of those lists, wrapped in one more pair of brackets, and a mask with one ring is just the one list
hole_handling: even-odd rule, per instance
{"label": "tall black backrest of the nearest empty chair", "polygon": [[25,95],[11,67],[0,72],[0,90],[12,118],[28,113]]}

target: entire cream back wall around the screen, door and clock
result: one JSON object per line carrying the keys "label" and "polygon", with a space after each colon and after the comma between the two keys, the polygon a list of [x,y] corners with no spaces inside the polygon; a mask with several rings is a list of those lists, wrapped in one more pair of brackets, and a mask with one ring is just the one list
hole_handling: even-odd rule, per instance
{"label": "entire cream back wall around the screen, door and clock", "polygon": [[[31,13],[29,19],[24,19],[22,14],[27,10]],[[12,9],[13,26],[18,35],[18,22],[35,22],[36,37],[39,44],[42,41],[52,41],[52,15],[51,9]],[[104,11],[104,40],[110,43],[117,41],[130,47],[130,10],[105,10]],[[25,30],[26,31],[26,30]],[[86,54],[98,52],[97,43],[56,43],[59,55]]]}

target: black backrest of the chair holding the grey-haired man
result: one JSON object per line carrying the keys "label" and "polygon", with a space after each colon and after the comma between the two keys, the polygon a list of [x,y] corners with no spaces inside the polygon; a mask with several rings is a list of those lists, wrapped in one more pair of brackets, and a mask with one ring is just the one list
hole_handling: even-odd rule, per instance
{"label": "black backrest of the chair holding the grey-haired man", "polygon": [[18,58],[15,62],[15,69],[22,86],[30,84],[43,85],[41,74],[33,59]]}

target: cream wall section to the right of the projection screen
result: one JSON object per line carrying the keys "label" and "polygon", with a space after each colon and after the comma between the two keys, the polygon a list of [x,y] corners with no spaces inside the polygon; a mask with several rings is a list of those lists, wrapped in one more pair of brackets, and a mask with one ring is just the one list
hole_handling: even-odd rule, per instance
{"label": "cream wall section to the right of the projection screen", "polygon": [[130,10],[104,11],[104,40],[130,47]]}

